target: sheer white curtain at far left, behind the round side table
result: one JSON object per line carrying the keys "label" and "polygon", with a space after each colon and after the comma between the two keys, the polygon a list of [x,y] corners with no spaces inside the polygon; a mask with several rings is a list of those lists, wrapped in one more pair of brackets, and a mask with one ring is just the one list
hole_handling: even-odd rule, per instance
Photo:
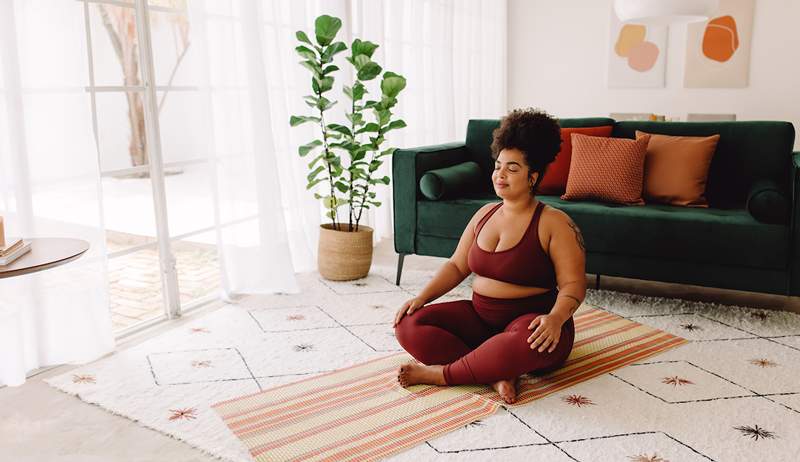
{"label": "sheer white curtain at far left, behind the round side table", "polygon": [[111,351],[83,6],[0,0],[0,215],[6,236],[73,237],[81,258],[0,279],[0,385]]}

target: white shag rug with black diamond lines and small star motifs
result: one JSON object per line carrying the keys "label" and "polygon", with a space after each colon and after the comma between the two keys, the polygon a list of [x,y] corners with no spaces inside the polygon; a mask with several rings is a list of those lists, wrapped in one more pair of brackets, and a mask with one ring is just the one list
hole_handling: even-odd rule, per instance
{"label": "white shag rug with black diamond lines and small star motifs", "polygon": [[[226,305],[47,382],[226,461],[250,461],[216,402],[400,351],[392,319],[432,272],[373,266]],[[469,299],[472,277],[435,302]],[[435,303],[434,302],[434,303]],[[589,290],[586,303],[690,340],[387,460],[795,461],[800,315]]]}

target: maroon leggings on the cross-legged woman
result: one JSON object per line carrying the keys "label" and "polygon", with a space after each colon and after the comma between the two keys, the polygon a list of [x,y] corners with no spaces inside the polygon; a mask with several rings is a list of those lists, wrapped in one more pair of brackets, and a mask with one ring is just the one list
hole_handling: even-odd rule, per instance
{"label": "maroon leggings on the cross-legged woman", "polygon": [[[575,324],[570,317],[552,353],[530,348],[528,329],[556,301],[554,289],[525,298],[494,298],[472,293],[472,300],[432,303],[404,315],[395,327],[400,345],[426,365],[444,364],[448,385],[490,384],[525,373],[560,367],[572,351]],[[550,345],[548,345],[549,349]]]}

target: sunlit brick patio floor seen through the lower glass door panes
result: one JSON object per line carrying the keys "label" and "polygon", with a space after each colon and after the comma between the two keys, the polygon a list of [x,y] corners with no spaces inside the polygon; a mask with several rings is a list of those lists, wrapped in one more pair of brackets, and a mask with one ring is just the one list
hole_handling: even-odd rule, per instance
{"label": "sunlit brick patio floor seen through the lower glass door panes", "polygon": [[[152,237],[107,234],[108,252],[116,252],[145,242]],[[178,271],[181,305],[220,288],[217,249],[214,245],[173,242]],[[154,244],[120,257],[109,259],[111,322],[115,331],[164,315],[158,247]]]}

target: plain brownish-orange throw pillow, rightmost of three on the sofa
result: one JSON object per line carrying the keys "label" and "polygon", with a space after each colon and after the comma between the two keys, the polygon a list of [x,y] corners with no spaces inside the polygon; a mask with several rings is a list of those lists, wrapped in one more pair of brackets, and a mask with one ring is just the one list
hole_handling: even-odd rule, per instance
{"label": "plain brownish-orange throw pillow, rightmost of three on the sofa", "polygon": [[719,135],[670,136],[636,130],[649,136],[644,162],[644,198],[684,207],[708,207],[706,180]]}

